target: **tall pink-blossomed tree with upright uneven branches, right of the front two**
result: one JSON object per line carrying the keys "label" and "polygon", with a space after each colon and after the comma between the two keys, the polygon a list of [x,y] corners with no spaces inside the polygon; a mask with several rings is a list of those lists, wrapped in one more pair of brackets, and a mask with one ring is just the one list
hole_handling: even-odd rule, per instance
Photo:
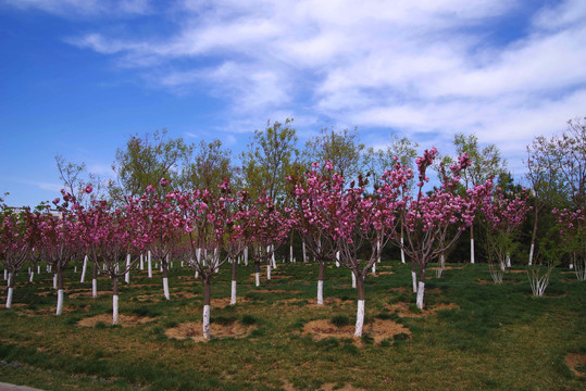
{"label": "tall pink-blossomed tree with upright uneven branches, right of the front two", "polygon": [[[423,308],[427,264],[447,251],[462,231],[472,225],[478,201],[493,185],[488,180],[485,185],[466,190],[464,195],[456,193],[460,175],[470,165],[464,154],[449,167],[449,174],[442,171],[446,178],[441,187],[425,195],[423,188],[429,181],[426,171],[436,155],[437,149],[432,148],[415,160],[419,171],[417,193],[413,198],[404,197],[404,210],[401,213],[407,236],[403,249],[412,262],[413,290],[417,293],[419,308]],[[450,230],[451,226],[458,229]]]}

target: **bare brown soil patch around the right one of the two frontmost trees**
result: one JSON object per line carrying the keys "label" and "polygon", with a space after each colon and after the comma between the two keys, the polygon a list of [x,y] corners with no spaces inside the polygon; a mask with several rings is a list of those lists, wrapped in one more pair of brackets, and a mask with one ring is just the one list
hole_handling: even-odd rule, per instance
{"label": "bare brown soil patch around the right one of the two frontmost trees", "polygon": [[[396,335],[406,333],[411,336],[411,331],[403,325],[392,320],[375,319],[373,323],[365,324],[363,332],[374,339],[375,343],[381,343],[384,339],[392,338]],[[303,333],[312,336],[314,341],[326,338],[353,338],[354,344],[361,346],[362,341],[354,338],[354,325],[337,327],[329,319],[312,320],[303,327]]]}

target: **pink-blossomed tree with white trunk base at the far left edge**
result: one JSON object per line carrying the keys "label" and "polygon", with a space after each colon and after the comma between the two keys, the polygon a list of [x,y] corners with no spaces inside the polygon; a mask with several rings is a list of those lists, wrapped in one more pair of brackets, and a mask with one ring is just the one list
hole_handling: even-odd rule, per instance
{"label": "pink-blossomed tree with white trunk base at the far left edge", "polygon": [[[2,199],[0,199],[2,202]],[[0,260],[8,272],[5,307],[12,306],[15,277],[28,258],[32,248],[30,211],[15,213],[4,204],[0,205]]]}

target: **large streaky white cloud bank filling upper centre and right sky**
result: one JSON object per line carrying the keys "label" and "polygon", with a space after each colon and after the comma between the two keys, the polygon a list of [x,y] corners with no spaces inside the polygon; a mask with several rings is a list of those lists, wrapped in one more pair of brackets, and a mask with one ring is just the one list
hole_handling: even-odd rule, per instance
{"label": "large streaky white cloud bank filling upper centre and right sky", "polygon": [[[165,11],[171,34],[96,30],[70,41],[158,88],[225,100],[234,133],[287,114],[304,126],[396,128],[438,142],[476,133],[513,153],[586,108],[581,0],[183,0]],[[494,39],[513,17],[518,35]]]}

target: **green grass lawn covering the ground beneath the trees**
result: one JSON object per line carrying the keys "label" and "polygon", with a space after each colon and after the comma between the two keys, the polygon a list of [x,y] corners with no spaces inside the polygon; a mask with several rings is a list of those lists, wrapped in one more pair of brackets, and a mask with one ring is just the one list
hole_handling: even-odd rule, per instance
{"label": "green grass lawn covering the ground beneath the trees", "polygon": [[[157,272],[152,279],[134,272],[132,285],[121,285],[121,315],[153,319],[129,327],[109,321],[78,326],[86,317],[110,315],[112,298],[71,298],[91,290],[91,282],[79,283],[72,270],[65,278],[65,312],[54,316],[51,276],[35,276],[29,285],[23,273],[15,306],[0,310],[0,379],[45,390],[280,390],[285,383],[299,390],[324,384],[367,390],[586,387],[585,377],[564,363],[569,353],[586,353],[586,283],[573,275],[554,270],[546,297],[536,299],[524,274],[507,274],[511,283],[494,285],[479,283],[490,279],[486,265],[448,269],[442,278],[427,279],[425,308],[440,303],[457,307],[422,317],[410,292],[410,266],[389,261],[377,269],[394,274],[366,277],[366,323],[392,320],[412,335],[381,343],[365,335],[361,348],[351,338],[314,341],[303,333],[311,320],[354,324],[356,291],[342,267],[326,269],[324,295],[341,301],[324,307],[308,304],[316,294],[316,265],[278,264],[273,275],[280,278],[263,278],[260,288],[253,287],[253,266],[240,267],[238,304],[221,308],[212,303],[211,321],[237,323],[252,331],[209,343],[165,335],[169,328],[201,320],[202,285],[187,268],[171,270],[170,302]],[[228,268],[214,276],[213,299],[229,298],[229,280]],[[111,281],[101,278],[99,289],[111,290]],[[5,299],[5,288],[0,297]],[[406,303],[413,317],[391,311],[396,303]]]}

